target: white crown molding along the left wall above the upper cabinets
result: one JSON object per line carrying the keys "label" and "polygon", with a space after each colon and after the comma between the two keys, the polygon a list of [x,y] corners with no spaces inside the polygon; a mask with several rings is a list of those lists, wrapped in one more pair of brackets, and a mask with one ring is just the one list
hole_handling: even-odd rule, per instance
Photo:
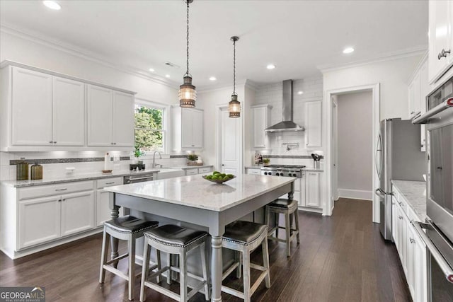
{"label": "white crown molding along the left wall above the upper cabinets", "polygon": [[[31,33],[26,30],[14,28],[12,25],[6,23],[0,23],[0,33],[6,33],[8,35],[13,35],[15,37],[20,37],[23,40],[28,40],[30,42],[35,42],[40,45],[44,45],[46,47],[50,47],[54,50],[59,50],[61,52],[66,52],[67,54],[71,54],[74,57],[79,57],[82,59],[86,59],[88,61],[94,62],[96,64],[101,64],[103,66],[109,67],[111,69],[115,69],[117,71],[124,72],[126,74],[130,74],[132,76],[137,76],[139,78],[152,81],[154,83],[158,83],[164,86],[168,86],[171,88],[178,88],[178,84],[173,83],[173,81],[168,81],[164,78],[158,76],[150,76],[146,74],[146,71],[141,71],[139,69],[131,69],[129,67],[120,66],[113,62],[109,62],[105,59],[102,59],[98,56],[98,54],[86,50],[81,47],[77,47],[75,45],[71,45],[69,43],[65,43],[59,40],[52,39],[46,35],[42,35],[40,33]],[[6,58],[7,59],[7,58]]]}

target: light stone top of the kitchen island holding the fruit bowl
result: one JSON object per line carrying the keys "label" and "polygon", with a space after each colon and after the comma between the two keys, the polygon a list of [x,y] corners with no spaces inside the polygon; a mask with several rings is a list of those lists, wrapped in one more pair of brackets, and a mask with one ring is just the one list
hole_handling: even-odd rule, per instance
{"label": "light stone top of the kitchen island holding the fruit bowl", "polygon": [[216,184],[203,179],[202,175],[190,175],[152,182],[117,185],[106,187],[104,190],[172,204],[182,204],[197,209],[224,211],[294,182],[296,179],[238,175],[236,178],[224,182],[224,184]]}

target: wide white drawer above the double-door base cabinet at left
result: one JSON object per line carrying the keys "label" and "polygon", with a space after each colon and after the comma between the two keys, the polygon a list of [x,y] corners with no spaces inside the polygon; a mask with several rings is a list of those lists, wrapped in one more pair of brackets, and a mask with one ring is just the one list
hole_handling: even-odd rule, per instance
{"label": "wide white drawer above the double-door base cabinet at left", "polygon": [[59,185],[40,185],[39,187],[25,187],[19,190],[19,199],[30,199],[36,197],[45,197],[71,192],[93,190],[93,181],[84,182],[67,182]]}

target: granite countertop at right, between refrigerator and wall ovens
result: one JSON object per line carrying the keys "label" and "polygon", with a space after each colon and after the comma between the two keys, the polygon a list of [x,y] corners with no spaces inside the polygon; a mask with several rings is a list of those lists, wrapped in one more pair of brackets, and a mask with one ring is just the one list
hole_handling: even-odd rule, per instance
{"label": "granite countertop at right, between refrigerator and wall ovens", "polygon": [[411,180],[391,180],[391,183],[401,192],[401,197],[406,200],[420,219],[425,222],[426,216],[426,182]]}

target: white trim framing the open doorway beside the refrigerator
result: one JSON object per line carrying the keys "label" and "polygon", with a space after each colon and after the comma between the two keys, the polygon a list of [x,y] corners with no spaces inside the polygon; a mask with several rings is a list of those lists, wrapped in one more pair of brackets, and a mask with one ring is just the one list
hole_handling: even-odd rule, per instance
{"label": "white trim framing the open doorway beside the refrigerator", "polygon": [[[324,103],[325,105],[323,108],[325,108],[324,116],[326,116],[326,147],[327,147],[327,154],[326,156],[326,166],[329,167],[326,169],[326,188],[327,188],[327,196],[328,198],[326,199],[326,207],[324,208],[323,215],[331,216],[333,212],[333,207],[334,207],[334,200],[338,198],[338,186],[340,186],[340,183],[338,182],[339,176],[339,169],[338,169],[338,163],[340,159],[338,158],[338,146],[339,146],[339,141],[341,139],[340,134],[338,134],[338,129],[337,127],[333,126],[333,121],[334,118],[337,120],[338,124],[338,95],[344,95],[348,93],[360,93],[360,92],[365,92],[365,91],[370,91],[372,95],[372,100],[371,100],[371,120],[372,120],[372,131],[371,131],[371,137],[372,137],[372,142],[369,144],[368,148],[371,148],[373,150],[373,146],[376,145],[376,140],[377,140],[377,134],[379,133],[379,104],[380,104],[380,95],[379,95],[379,83],[375,83],[372,85],[365,85],[365,86],[355,86],[355,87],[348,87],[348,88],[339,88],[331,91],[326,91],[326,94],[324,96]],[[337,98],[337,99],[336,99]],[[333,105],[333,100],[336,101],[337,105]],[[336,117],[334,117],[336,115]],[[360,124],[357,124],[356,127],[360,127]],[[337,132],[337,134],[335,133]],[[337,141],[334,139],[337,137]],[[372,151],[370,152],[372,156]],[[375,159],[372,156],[371,163],[369,163],[369,168],[371,169],[371,174],[372,174],[372,188],[376,187],[377,184],[379,183],[379,178],[377,176],[377,171],[375,170],[374,163]],[[358,190],[360,191],[360,190]],[[364,190],[365,191],[365,190]],[[373,190],[372,190],[373,192]],[[363,193],[363,192],[362,192]],[[365,194],[365,193],[363,193]],[[372,199],[372,221],[379,223],[379,198],[375,196],[374,194],[371,194],[372,196],[369,197]],[[367,195],[369,196],[369,194]],[[357,197],[358,198],[358,197]]]}

